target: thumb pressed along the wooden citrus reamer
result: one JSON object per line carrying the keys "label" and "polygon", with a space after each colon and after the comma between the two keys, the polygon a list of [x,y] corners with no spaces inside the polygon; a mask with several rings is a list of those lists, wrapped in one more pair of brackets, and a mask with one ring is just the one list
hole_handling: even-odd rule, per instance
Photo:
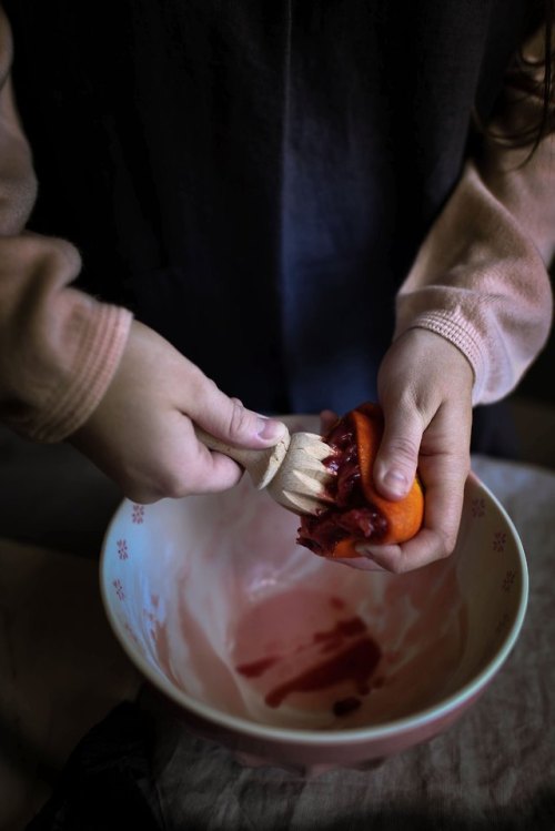
{"label": "thumb pressed along the wooden citrus reamer", "polygon": [[229,398],[218,388],[208,398],[202,415],[194,420],[228,444],[252,449],[272,447],[287,433],[283,422],[248,409],[239,398]]}

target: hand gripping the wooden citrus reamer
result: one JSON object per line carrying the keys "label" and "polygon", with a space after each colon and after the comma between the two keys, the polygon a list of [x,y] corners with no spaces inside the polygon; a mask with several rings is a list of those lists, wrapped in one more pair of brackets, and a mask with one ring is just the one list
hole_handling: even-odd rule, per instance
{"label": "hand gripping the wooden citrus reamer", "polygon": [[242,476],[196,439],[194,425],[250,449],[275,445],[285,425],[229,398],[153,330],[133,321],[121,363],[69,440],[137,503],[225,490]]}

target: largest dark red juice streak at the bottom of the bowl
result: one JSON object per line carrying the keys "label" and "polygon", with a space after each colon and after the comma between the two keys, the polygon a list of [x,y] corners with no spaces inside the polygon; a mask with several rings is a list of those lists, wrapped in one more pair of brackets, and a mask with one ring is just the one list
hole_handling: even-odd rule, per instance
{"label": "largest dark red juice streak at the bottom of the bowl", "polygon": [[285,683],[271,690],[265,702],[279,707],[292,692],[312,692],[353,680],[361,695],[369,691],[369,679],[381,658],[381,650],[372,638],[357,640],[339,655],[316,663]]}

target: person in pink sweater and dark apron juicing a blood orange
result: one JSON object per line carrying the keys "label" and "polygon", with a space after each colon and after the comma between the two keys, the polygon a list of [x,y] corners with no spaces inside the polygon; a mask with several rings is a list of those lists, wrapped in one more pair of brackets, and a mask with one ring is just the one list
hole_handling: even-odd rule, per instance
{"label": "person in pink sweater and dark apron juicing a blood orange", "polygon": [[377,399],[426,511],[364,567],[447,556],[473,412],[551,328],[544,4],[2,6],[2,422],[149,503],[238,482],[195,425]]}

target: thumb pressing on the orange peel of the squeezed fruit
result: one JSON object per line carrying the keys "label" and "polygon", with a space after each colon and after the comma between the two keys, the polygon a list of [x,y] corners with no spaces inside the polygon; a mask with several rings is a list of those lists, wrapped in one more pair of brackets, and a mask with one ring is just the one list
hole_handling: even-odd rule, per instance
{"label": "thumb pressing on the orange peel of the squeezed fruit", "polygon": [[374,484],[386,499],[402,499],[416,476],[422,423],[398,406],[384,407],[383,413],[384,433],[374,462]]}

